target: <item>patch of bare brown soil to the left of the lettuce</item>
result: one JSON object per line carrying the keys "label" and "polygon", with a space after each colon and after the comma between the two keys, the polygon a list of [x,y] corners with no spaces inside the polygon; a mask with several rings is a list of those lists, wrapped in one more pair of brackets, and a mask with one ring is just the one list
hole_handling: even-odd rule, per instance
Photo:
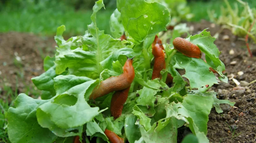
{"label": "patch of bare brown soil to the left of the lettuce", "polygon": [[42,39],[17,32],[0,34],[0,94],[6,94],[8,89],[29,96],[36,92],[31,78],[44,72],[43,59],[53,55],[54,45],[53,37]]}

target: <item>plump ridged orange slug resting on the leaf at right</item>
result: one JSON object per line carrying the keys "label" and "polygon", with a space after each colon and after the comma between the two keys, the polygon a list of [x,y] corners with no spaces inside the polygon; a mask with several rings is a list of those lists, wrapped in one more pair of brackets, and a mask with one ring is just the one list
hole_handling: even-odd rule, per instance
{"label": "plump ridged orange slug resting on the leaf at right", "polygon": [[186,55],[192,58],[198,58],[198,59],[200,59],[202,56],[202,53],[199,47],[186,39],[177,37],[172,41],[172,44],[174,48],[177,51],[181,52],[183,55]]}

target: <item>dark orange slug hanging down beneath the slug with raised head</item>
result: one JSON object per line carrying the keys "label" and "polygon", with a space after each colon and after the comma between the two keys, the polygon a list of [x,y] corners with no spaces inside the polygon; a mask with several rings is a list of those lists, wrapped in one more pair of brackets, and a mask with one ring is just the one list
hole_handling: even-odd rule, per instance
{"label": "dark orange slug hanging down beneath the slug with raised head", "polygon": [[122,114],[124,103],[127,100],[130,86],[124,90],[116,91],[111,99],[110,112],[114,119],[118,118]]}

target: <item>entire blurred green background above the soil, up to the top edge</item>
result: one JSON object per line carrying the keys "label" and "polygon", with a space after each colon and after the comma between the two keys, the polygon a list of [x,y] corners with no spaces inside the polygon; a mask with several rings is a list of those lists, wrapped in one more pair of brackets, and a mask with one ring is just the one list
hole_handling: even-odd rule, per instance
{"label": "entire blurred green background above the soil, up to the top edge", "polygon": [[[96,0],[0,0],[0,32],[18,31],[32,32],[41,35],[55,35],[56,28],[66,26],[68,36],[81,35],[90,24],[92,7]],[[167,0],[170,3],[186,2],[186,0]],[[228,0],[234,7],[236,0]],[[244,0],[250,7],[256,7],[256,0]],[[98,27],[110,33],[110,15],[116,8],[116,0],[104,0],[106,10],[97,14]],[[223,0],[187,0],[186,7],[194,15],[189,19],[198,22],[210,20],[207,10],[214,9],[216,16],[221,13],[220,5],[226,7]],[[241,9],[241,5],[238,5]],[[174,11],[175,12],[175,11]],[[183,19],[188,20],[188,19]],[[104,22],[103,22],[104,21]]]}

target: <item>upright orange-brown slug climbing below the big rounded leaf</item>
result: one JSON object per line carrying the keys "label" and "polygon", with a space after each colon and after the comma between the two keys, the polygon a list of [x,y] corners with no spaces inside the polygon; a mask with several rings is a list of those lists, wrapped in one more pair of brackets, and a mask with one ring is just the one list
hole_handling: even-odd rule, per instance
{"label": "upright orange-brown slug climbing below the big rounded leaf", "polygon": [[165,54],[163,53],[163,50],[162,48],[160,48],[159,44],[154,45],[154,47],[152,48],[152,54],[155,57],[152,79],[162,78],[160,71],[165,69]]}

